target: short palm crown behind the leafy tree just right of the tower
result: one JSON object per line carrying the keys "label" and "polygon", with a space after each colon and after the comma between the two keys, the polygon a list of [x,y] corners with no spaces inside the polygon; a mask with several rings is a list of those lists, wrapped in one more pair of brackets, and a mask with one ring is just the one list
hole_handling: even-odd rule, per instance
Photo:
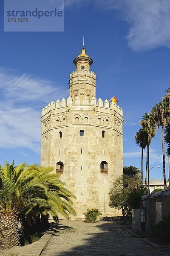
{"label": "short palm crown behind the leafy tree just right of the tower", "polygon": [[129,186],[132,188],[138,187],[141,184],[141,171],[135,166],[125,166],[123,167],[123,175]]}

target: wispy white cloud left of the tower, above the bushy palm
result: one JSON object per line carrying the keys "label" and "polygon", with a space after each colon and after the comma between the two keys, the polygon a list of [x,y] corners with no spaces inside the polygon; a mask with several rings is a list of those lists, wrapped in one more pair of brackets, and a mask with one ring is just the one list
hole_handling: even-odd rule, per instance
{"label": "wispy white cloud left of the tower, above the bushy palm", "polygon": [[40,152],[41,108],[67,91],[48,79],[4,67],[0,67],[0,91],[1,148]]}

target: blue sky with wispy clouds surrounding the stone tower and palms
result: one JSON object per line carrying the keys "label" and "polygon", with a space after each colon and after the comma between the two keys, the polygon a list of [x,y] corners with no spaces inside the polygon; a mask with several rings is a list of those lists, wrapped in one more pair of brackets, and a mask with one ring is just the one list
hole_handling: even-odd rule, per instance
{"label": "blue sky with wispy clouds surrounding the stone tower and palms", "polygon": [[[65,0],[65,32],[4,32],[2,2],[0,164],[40,163],[41,109],[68,98],[73,59],[85,35],[96,98],[116,95],[125,119],[124,165],[140,168],[134,140],[139,120],[170,87],[170,1]],[[163,179],[160,131],[150,146],[153,166],[161,168],[152,169],[150,178]]]}

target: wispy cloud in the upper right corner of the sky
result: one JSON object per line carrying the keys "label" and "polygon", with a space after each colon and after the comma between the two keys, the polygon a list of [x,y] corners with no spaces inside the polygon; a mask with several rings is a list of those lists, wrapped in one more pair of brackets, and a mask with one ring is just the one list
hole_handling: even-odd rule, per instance
{"label": "wispy cloud in the upper right corner of the sky", "polygon": [[[88,0],[65,0],[66,6],[80,6]],[[169,0],[93,0],[98,8],[116,9],[119,17],[129,23],[127,42],[134,51],[170,47]]]}

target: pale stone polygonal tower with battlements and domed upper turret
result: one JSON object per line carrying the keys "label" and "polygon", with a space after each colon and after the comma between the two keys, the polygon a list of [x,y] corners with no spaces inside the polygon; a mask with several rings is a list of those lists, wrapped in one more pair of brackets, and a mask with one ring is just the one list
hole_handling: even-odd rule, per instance
{"label": "pale stone polygonal tower with battlements and domed upper turret", "polygon": [[116,215],[108,206],[108,192],[123,173],[123,111],[107,99],[96,100],[92,63],[83,47],[70,74],[70,96],[48,104],[41,119],[41,165],[53,166],[77,197],[77,218],[84,218],[87,208]]}

